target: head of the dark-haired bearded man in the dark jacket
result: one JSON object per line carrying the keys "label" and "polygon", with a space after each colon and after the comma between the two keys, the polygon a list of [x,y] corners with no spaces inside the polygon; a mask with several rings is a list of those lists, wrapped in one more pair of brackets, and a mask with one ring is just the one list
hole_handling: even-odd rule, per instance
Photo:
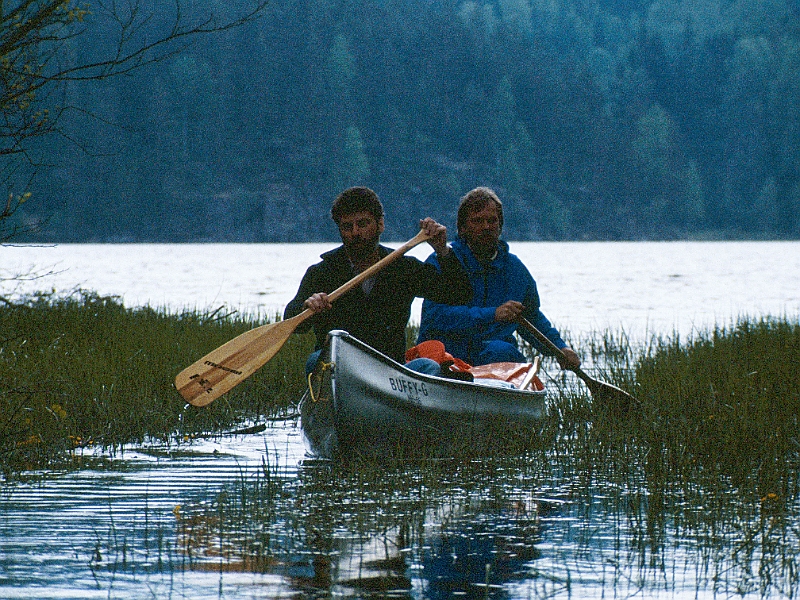
{"label": "head of the dark-haired bearded man in the dark jacket", "polygon": [[348,188],[336,197],[331,217],[351,260],[369,257],[383,233],[383,205],[367,187]]}

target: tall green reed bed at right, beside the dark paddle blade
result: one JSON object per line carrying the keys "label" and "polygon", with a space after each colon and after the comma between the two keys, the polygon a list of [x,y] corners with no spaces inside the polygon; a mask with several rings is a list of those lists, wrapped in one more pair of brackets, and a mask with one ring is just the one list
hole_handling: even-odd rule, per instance
{"label": "tall green reed bed at right, beside the dark paddle blade", "polygon": [[797,320],[742,318],[689,339],[654,337],[635,352],[608,333],[580,347],[589,368],[638,402],[620,415],[554,371],[545,453],[562,473],[587,489],[605,480],[636,490],[650,526],[667,515],[693,522],[698,507],[712,498],[727,506],[731,494],[756,514],[796,510]]}

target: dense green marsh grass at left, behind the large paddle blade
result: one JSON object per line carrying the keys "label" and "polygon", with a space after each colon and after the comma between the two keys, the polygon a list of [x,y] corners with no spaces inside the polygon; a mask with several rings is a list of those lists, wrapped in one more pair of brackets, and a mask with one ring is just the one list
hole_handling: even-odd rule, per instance
{"label": "dense green marsh grass at left, behind the large paddle blade", "polygon": [[219,311],[129,309],[83,291],[1,305],[0,466],[47,466],[80,446],[171,441],[278,412],[303,389],[307,336],[293,336],[203,409],[187,407],[173,386],[183,368],[261,324]]}

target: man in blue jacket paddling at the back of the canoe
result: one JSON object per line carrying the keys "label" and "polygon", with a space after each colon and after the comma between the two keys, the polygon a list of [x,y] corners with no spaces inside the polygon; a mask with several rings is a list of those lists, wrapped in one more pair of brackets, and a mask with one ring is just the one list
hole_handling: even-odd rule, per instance
{"label": "man in blue jacket paddling at the back of the canoe", "polygon": [[[563,368],[580,366],[580,358],[539,310],[539,292],[528,269],[500,239],[503,204],[489,188],[479,187],[461,199],[458,239],[452,251],[472,282],[472,302],[447,306],[422,304],[417,343],[440,340],[445,349],[472,365],[526,362],[517,347],[516,319],[523,315],[564,352]],[[426,261],[438,266],[436,255]],[[550,354],[527,330],[519,334],[543,354]]]}

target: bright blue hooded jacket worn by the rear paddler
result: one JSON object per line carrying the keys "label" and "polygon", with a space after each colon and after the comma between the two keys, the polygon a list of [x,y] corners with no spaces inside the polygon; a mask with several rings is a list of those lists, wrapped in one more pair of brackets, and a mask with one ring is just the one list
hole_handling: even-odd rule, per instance
{"label": "bright blue hooded jacket worn by the rear paddler", "polygon": [[[472,302],[468,305],[448,306],[425,300],[422,304],[417,343],[440,340],[450,354],[475,364],[473,359],[486,341],[502,340],[517,344],[514,338],[517,324],[498,323],[494,320],[494,312],[498,306],[508,300],[516,300],[525,305],[524,316],[539,331],[559,348],[567,346],[558,330],[539,310],[536,282],[522,261],[508,251],[506,242],[500,242],[497,256],[486,265],[478,262],[460,238],[452,243],[452,249],[464,265],[472,283]],[[435,254],[429,256],[426,262],[438,267]],[[527,330],[520,329],[519,335],[542,354],[550,354]]]}

